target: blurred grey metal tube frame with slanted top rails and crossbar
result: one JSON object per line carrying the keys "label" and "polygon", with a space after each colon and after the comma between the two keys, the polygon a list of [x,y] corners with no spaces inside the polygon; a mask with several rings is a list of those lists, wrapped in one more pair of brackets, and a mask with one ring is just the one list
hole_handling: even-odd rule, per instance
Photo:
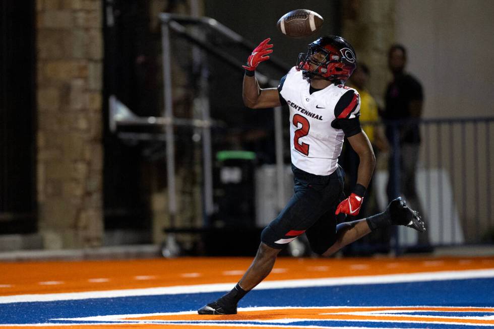
{"label": "blurred grey metal tube frame with slanted top rails and crossbar", "polygon": [[[160,117],[138,117],[125,105],[119,102],[116,97],[111,96],[109,99],[109,123],[110,129],[120,138],[135,138],[135,139],[160,139],[166,144],[166,176],[168,189],[168,211],[170,218],[170,227],[174,228],[175,218],[177,215],[177,199],[176,199],[176,183],[175,183],[175,134],[176,126],[190,126],[195,128],[194,131],[200,131],[202,141],[202,166],[203,166],[203,226],[209,226],[209,218],[213,215],[213,165],[212,165],[212,141],[211,127],[218,125],[210,117],[209,108],[209,91],[208,91],[208,76],[209,68],[206,61],[207,55],[213,55],[215,58],[220,58],[224,63],[234,68],[238,72],[243,72],[243,60],[256,47],[252,42],[244,39],[234,31],[228,29],[214,19],[207,17],[190,17],[183,15],[175,15],[161,13],[161,44],[162,44],[162,75],[163,75],[163,98],[164,105],[162,116]],[[207,37],[214,35],[214,42],[206,42]],[[218,38],[223,41],[218,42]],[[192,67],[198,72],[197,90],[194,106],[198,106],[200,113],[198,117],[192,119],[177,118],[174,115],[172,101],[172,40],[186,40],[192,45]],[[213,45],[211,45],[213,44]],[[223,44],[223,47],[221,46]],[[232,48],[242,52],[242,57],[233,56],[230,52]],[[276,58],[271,57],[269,63],[265,66],[269,70],[278,70],[281,75],[288,71],[288,65],[282,63]],[[263,69],[264,70],[264,69]],[[262,85],[277,86],[278,79],[270,79],[268,75],[257,72],[256,77]],[[196,105],[197,104],[197,105]],[[283,150],[282,150],[282,119],[281,107],[274,109],[275,121],[275,143],[276,143],[276,161],[278,168],[278,185],[283,182]],[[123,126],[162,126],[164,134],[153,133],[126,133],[117,132],[118,127]],[[283,207],[283,189],[278,189],[278,208]],[[174,238],[172,234],[167,237],[167,243],[173,244]]]}

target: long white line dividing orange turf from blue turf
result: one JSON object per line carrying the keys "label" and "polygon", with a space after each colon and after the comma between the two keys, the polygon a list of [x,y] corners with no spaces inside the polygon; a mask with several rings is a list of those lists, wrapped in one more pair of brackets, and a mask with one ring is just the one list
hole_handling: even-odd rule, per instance
{"label": "long white line dividing orange turf from blue turf", "polygon": [[[374,276],[355,276],[340,278],[322,279],[300,279],[300,280],[277,280],[265,281],[256,287],[259,289],[280,289],[280,288],[301,288],[301,287],[326,287],[342,285],[365,285],[365,284],[389,284],[403,282],[424,282],[424,281],[444,281],[462,279],[494,278],[494,269],[466,270],[466,271],[443,271],[443,272],[423,272],[411,274],[387,274]],[[122,289],[105,291],[86,291],[57,294],[28,294],[0,296],[0,304],[21,303],[21,302],[48,302],[59,300],[77,300],[89,298],[115,298],[130,296],[156,296],[156,295],[176,295],[195,294],[208,292],[223,292],[231,289],[236,284],[202,284],[189,286],[155,287],[142,289]]]}

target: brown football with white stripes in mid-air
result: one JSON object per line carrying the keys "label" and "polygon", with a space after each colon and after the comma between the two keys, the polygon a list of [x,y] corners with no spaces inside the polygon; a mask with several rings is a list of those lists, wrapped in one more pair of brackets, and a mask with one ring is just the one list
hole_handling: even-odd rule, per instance
{"label": "brown football with white stripes in mid-air", "polygon": [[278,30],[292,38],[303,38],[318,31],[324,19],[308,9],[296,9],[283,15],[276,24]]}

